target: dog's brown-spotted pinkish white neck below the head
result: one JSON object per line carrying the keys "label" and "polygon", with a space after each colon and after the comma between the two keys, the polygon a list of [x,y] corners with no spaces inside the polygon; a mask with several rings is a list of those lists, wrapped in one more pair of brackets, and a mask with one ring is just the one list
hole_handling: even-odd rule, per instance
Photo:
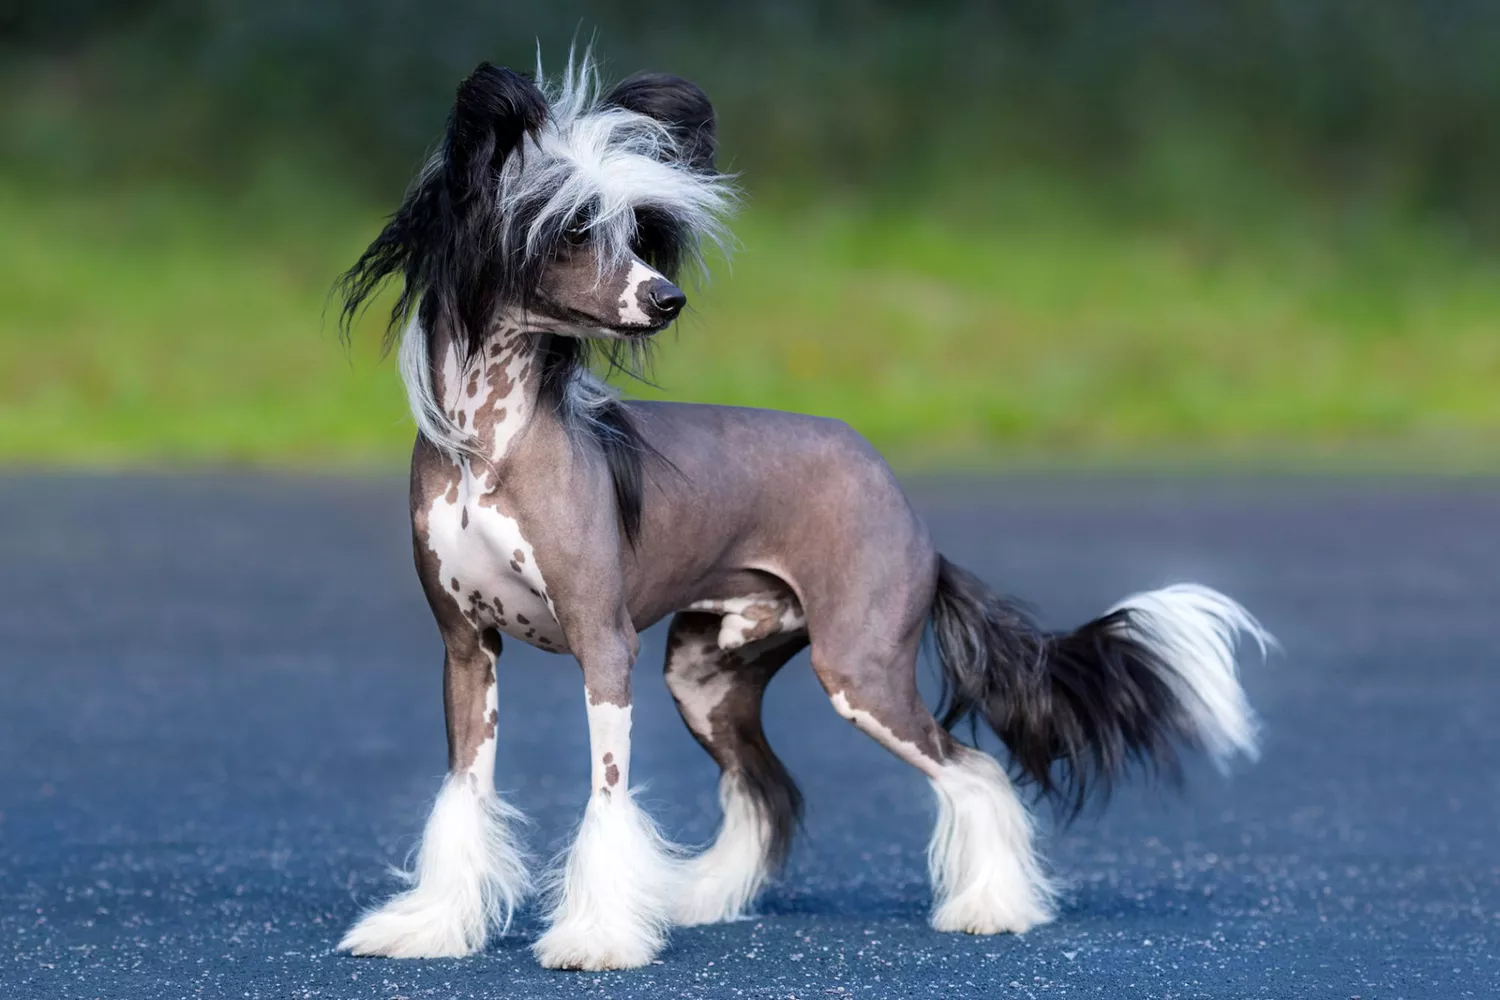
{"label": "dog's brown-spotted pinkish white neck below the head", "polygon": [[520,433],[538,417],[542,340],[501,319],[483,349],[462,364],[462,352],[446,330],[432,339],[438,405],[459,430],[472,436],[476,456],[489,466],[504,462]]}

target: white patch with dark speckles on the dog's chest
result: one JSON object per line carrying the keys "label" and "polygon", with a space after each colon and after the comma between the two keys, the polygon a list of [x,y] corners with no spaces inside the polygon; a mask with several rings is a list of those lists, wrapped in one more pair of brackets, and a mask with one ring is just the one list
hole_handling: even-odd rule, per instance
{"label": "white patch with dark speckles on the dog's chest", "polygon": [[466,490],[453,502],[438,496],[428,511],[428,547],[438,558],[438,579],[476,628],[567,652],[542,567],[514,517]]}

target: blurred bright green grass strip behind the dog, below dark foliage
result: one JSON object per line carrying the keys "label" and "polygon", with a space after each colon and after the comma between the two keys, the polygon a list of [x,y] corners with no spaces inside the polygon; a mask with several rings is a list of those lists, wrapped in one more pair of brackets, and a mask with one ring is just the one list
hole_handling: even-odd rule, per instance
{"label": "blurred bright green grass strip behind the dog, below dark foliage", "polygon": [[[840,417],[906,468],[1494,468],[1500,264],[1398,213],[1240,195],[1162,219],[1046,177],[752,199],[660,388],[626,388]],[[324,318],[380,225],[362,196],[291,171],[232,198],[0,181],[0,460],[408,453],[380,307],[348,351]]]}

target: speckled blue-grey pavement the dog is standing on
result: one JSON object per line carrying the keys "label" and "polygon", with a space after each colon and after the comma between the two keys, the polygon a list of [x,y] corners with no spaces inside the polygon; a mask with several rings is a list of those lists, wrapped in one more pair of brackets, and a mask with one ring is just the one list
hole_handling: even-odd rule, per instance
{"label": "speckled blue-grey pavement the dog is standing on", "polygon": [[[543,972],[537,913],[462,961],[333,943],[392,889],[444,766],[441,651],[399,478],[0,480],[0,997],[1500,996],[1500,486],[916,481],[942,549],[1048,622],[1178,579],[1286,655],[1245,676],[1264,756],[1053,831],[1060,919],[936,934],[918,775],[794,661],[768,732],[807,793],[762,916],[630,973]],[[684,843],[716,771],[638,673],[633,774]],[[510,643],[500,786],[564,843],[579,673]]]}

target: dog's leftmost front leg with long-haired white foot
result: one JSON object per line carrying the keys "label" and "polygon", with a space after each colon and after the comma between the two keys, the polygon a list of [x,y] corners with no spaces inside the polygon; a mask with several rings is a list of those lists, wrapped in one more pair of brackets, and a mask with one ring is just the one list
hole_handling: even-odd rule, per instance
{"label": "dog's leftmost front leg with long-haired white foot", "polygon": [[448,775],[422,834],[410,888],[368,912],[339,948],[356,955],[470,955],[504,928],[528,888],[510,826],[519,814],[495,793],[495,663],[500,636],[446,630],[442,696]]}

